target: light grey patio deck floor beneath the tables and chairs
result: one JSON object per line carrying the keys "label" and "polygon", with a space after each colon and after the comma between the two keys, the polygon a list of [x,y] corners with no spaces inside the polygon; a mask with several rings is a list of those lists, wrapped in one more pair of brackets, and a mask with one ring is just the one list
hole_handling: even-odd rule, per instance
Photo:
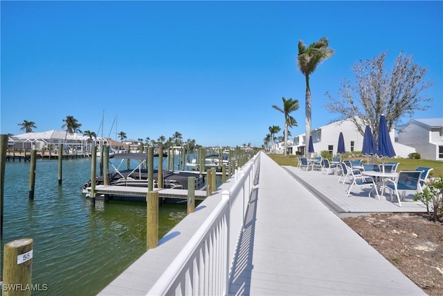
{"label": "light grey patio deck floor beneath the tables and chairs", "polygon": [[426,212],[426,206],[422,202],[413,202],[413,195],[406,195],[401,207],[396,202],[395,195],[394,202],[391,202],[390,194],[386,192],[380,195],[380,200],[374,198],[374,194],[370,198],[369,186],[353,186],[352,193],[347,197],[346,190],[350,181],[338,183],[338,175],[299,170],[295,166],[283,168],[341,218],[370,213]]}

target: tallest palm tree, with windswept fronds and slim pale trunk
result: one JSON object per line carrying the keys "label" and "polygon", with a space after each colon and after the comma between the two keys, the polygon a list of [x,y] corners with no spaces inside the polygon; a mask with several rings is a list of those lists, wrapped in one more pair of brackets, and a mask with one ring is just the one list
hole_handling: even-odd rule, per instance
{"label": "tallest palm tree, with windswept fronds and slim pale trunk", "polygon": [[316,70],[318,64],[334,54],[334,51],[327,46],[329,46],[329,41],[327,41],[326,37],[321,37],[318,42],[309,44],[309,47],[303,44],[302,40],[298,42],[297,65],[306,80],[305,139],[309,139],[311,136],[311,89],[309,88],[309,76]]}

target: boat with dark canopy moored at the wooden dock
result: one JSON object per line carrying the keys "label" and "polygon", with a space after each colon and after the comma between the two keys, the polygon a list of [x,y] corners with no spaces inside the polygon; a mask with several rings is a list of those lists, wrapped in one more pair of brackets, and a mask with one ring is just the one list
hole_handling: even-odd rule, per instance
{"label": "boat with dark canopy moored at the wooden dock", "polygon": [[[154,155],[154,157],[159,155]],[[120,164],[116,167],[111,162],[112,171],[107,176],[97,176],[96,185],[105,184],[105,177],[107,177],[108,184],[114,186],[137,186],[147,187],[148,184],[148,171],[146,168],[147,153],[115,153],[110,155],[109,159],[121,159]],[[139,161],[136,168],[130,168],[122,170],[120,165],[125,163],[127,159],[136,159]],[[159,171],[153,170],[153,184],[154,188],[158,187],[157,180],[159,179]],[[196,173],[187,171],[163,171],[163,188],[165,189],[188,189],[188,177],[195,177],[195,189],[199,190],[204,188],[204,177]],[[91,180],[84,183],[82,186],[82,192],[88,193],[91,188]]]}

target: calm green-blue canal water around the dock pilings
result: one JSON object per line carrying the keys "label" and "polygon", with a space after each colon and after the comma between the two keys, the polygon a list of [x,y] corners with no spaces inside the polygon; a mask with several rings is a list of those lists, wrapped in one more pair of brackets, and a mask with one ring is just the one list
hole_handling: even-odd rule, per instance
{"label": "calm green-blue canal water around the dock pilings", "polygon": [[[80,190],[91,175],[89,159],[64,159],[62,186],[58,161],[37,160],[29,200],[29,168],[6,162],[1,250],[33,238],[33,284],[48,286],[33,295],[96,295],[145,252],[145,202],[97,200],[92,207]],[[160,207],[159,236],[185,216],[186,204]]]}

